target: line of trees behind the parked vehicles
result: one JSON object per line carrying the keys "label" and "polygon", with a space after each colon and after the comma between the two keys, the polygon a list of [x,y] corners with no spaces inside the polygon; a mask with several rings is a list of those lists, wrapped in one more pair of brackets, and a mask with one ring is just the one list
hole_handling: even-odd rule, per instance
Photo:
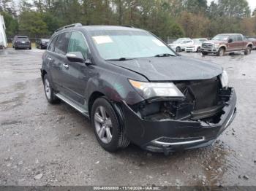
{"label": "line of trees behind the parked vehicles", "polygon": [[256,35],[256,9],[246,0],[0,0],[7,36],[50,36],[70,23],[143,28],[167,37]]}

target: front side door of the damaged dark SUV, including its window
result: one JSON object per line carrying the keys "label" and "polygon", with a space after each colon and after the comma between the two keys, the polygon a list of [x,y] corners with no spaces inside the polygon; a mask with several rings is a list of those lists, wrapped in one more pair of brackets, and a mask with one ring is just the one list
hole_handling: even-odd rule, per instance
{"label": "front side door of the damaged dark SUV, including its window", "polygon": [[[67,52],[81,52],[86,60],[89,46],[80,31],[72,31]],[[67,61],[68,68],[64,70],[64,87],[69,90],[69,97],[77,104],[85,104],[85,90],[89,78],[89,66],[85,63]]]}

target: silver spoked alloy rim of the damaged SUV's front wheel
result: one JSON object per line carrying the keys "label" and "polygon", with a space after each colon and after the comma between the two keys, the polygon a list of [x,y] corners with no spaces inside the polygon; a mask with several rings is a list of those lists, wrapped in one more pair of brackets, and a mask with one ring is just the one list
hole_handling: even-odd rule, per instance
{"label": "silver spoked alloy rim of the damaged SUV's front wheel", "polygon": [[112,140],[112,121],[104,106],[98,106],[94,114],[94,124],[99,139],[109,144]]}

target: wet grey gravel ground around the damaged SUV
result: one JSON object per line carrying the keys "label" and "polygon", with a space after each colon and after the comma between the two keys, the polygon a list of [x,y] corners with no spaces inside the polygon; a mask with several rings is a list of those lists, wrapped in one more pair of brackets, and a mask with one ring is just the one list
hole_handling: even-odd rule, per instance
{"label": "wet grey gravel ground around the damaged SUV", "polygon": [[105,152],[86,120],[50,105],[40,79],[43,50],[0,50],[0,185],[255,185],[256,51],[202,57],[223,66],[238,114],[211,147],[170,156],[130,145]]}

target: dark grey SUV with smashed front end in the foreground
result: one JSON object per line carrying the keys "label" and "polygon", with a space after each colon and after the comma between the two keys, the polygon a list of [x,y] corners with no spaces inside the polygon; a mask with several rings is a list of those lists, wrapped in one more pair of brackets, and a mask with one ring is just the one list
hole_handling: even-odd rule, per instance
{"label": "dark grey SUV with smashed front end in the foreground", "polygon": [[214,63],[179,56],[138,28],[60,28],[42,56],[45,95],[89,117],[110,152],[131,141],[173,152],[205,147],[236,115],[236,93]]}

